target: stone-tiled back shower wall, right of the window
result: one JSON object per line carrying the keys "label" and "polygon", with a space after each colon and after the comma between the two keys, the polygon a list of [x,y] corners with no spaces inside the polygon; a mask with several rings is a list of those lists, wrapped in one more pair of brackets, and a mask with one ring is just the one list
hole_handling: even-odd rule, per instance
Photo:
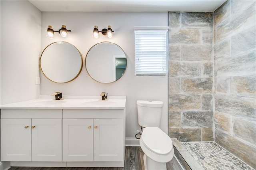
{"label": "stone-tiled back shower wall, right of the window", "polygon": [[169,12],[169,136],[213,141],[212,13]]}

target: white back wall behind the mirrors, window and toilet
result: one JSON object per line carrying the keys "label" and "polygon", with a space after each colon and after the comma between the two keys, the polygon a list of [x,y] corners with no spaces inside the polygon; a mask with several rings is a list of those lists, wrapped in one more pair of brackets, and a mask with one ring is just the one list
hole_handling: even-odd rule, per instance
{"label": "white back wall behind the mirrors, window and toilet", "polygon": [[[66,25],[67,38],[56,35],[54,40],[46,38],[46,30],[51,25],[59,30]],[[112,26],[114,38],[100,34],[100,39],[92,38],[97,25],[99,30]],[[118,44],[127,57],[127,69],[123,77],[114,83],[98,83],[90,78],[83,65],[80,75],[69,83],[54,83],[40,71],[40,95],[50,95],[56,91],[62,95],[126,95],[126,137],[134,137],[139,129],[137,100],[160,100],[164,102],[161,128],[168,132],[168,76],[135,76],[134,26],[168,26],[168,13],[128,13],[128,12],[42,12],[41,51],[52,42],[66,41],[75,45],[85,60],[88,50],[99,42],[109,41]]]}

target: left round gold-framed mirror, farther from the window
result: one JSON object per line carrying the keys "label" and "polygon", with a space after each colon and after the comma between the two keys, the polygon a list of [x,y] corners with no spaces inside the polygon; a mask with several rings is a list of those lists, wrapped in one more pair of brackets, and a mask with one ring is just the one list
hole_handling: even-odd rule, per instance
{"label": "left round gold-framed mirror, farther from the window", "polygon": [[67,83],[80,74],[83,58],[74,45],[54,42],[44,49],[39,64],[46,78],[56,83]]}

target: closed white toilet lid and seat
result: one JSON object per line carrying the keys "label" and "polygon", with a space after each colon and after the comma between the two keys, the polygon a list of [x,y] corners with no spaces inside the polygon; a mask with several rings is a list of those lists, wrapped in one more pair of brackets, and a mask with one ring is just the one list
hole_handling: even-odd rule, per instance
{"label": "closed white toilet lid and seat", "polygon": [[146,127],[140,137],[143,152],[157,162],[169,162],[174,150],[172,140],[158,127]]}

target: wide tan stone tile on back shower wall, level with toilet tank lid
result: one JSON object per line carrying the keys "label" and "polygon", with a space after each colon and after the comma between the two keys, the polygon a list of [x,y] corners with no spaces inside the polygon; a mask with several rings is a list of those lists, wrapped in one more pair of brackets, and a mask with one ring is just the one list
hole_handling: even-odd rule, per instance
{"label": "wide tan stone tile on back shower wall, level with toilet tank lid", "polygon": [[200,95],[169,95],[170,111],[196,111],[200,109]]}

